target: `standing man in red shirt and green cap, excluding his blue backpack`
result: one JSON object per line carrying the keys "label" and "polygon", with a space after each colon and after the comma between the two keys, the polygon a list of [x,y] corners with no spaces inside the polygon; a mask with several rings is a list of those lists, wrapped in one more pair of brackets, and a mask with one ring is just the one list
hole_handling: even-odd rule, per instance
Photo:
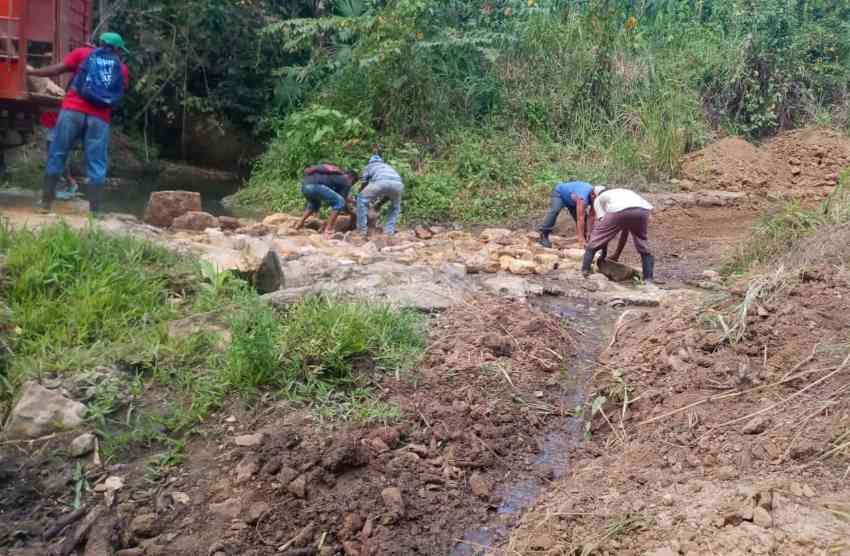
{"label": "standing man in red shirt and green cap, excluding his blue backpack", "polygon": [[[106,49],[109,56],[117,56],[121,51],[126,52],[124,39],[118,33],[103,33],[100,36],[100,45],[101,48]],[[44,177],[41,203],[39,204],[43,210],[50,210],[50,205],[56,196],[56,185],[65,171],[71,149],[77,141],[82,139],[87,163],[89,210],[94,215],[100,212],[100,202],[103,198],[103,186],[106,182],[106,171],[109,164],[109,131],[112,122],[112,108],[95,104],[92,100],[84,98],[81,94],[81,85],[78,83],[80,80],[77,79],[81,67],[93,52],[97,52],[97,50],[89,46],[77,48],[68,54],[61,64],[28,72],[29,75],[36,77],[54,77],[63,73],[74,74],[72,85],[62,102],[62,111],[59,113],[59,121],[56,124],[56,137],[50,145],[50,152],[47,155],[47,171]],[[106,62],[109,62],[108,57]],[[123,78],[123,86],[126,89],[130,81],[130,72],[126,64],[121,63],[120,66],[120,77]],[[109,68],[106,69],[108,72]],[[90,71],[101,70],[101,65],[90,69]],[[103,79],[102,74],[98,74],[97,77]],[[109,79],[110,76],[107,75],[106,78]]]}

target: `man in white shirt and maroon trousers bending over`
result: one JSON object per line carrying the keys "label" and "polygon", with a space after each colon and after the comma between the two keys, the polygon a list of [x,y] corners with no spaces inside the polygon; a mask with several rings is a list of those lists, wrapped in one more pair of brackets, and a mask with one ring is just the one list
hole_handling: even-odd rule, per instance
{"label": "man in white shirt and maroon trousers bending over", "polygon": [[596,225],[590,235],[590,241],[584,252],[581,263],[581,272],[585,276],[590,274],[590,265],[596,253],[602,251],[600,260],[604,260],[608,253],[608,243],[614,236],[620,234],[617,250],[611,257],[612,261],[620,258],[629,233],[632,234],[635,249],[640,254],[643,266],[643,279],[652,282],[655,267],[655,258],[649,251],[649,217],[652,214],[652,205],[646,199],[628,189],[605,189],[596,187],[596,200],[593,210],[596,213]]}

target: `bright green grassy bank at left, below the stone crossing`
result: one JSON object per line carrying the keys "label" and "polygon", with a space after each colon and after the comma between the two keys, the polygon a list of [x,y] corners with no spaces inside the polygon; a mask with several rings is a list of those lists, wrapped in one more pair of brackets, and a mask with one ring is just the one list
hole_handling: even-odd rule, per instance
{"label": "bright green grassy bank at left, below the stone crossing", "polygon": [[391,418],[371,387],[424,349],[419,315],[327,298],[282,315],[229,273],[96,227],[3,227],[0,252],[0,414],[25,381],[58,379],[85,392],[107,454],[172,443],[234,394]]}

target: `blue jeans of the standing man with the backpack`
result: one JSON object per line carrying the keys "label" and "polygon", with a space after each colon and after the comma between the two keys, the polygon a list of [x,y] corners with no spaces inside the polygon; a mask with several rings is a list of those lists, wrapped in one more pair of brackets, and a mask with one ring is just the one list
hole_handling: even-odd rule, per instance
{"label": "blue jeans of the standing man with the backpack", "polygon": [[62,110],[56,122],[56,137],[47,153],[47,175],[59,177],[65,173],[68,156],[77,141],[82,139],[89,186],[103,187],[109,167],[109,127],[97,116]]}

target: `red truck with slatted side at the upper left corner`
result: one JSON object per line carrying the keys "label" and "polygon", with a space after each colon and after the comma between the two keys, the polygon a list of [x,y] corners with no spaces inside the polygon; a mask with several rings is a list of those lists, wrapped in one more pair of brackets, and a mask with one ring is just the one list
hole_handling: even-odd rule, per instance
{"label": "red truck with slatted side at the upper left corner", "polygon": [[[34,116],[57,108],[55,96],[31,91],[27,66],[59,63],[74,48],[89,42],[96,0],[0,0],[0,133],[17,131],[27,142]],[[61,83],[65,86],[66,83]],[[13,141],[14,143],[14,141]]]}

